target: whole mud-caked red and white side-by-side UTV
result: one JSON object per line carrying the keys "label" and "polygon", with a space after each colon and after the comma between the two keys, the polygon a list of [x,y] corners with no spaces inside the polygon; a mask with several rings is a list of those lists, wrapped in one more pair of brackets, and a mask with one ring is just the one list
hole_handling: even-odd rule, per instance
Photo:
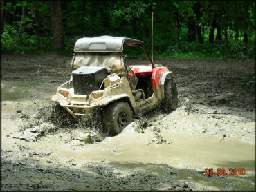
{"label": "whole mud-caked red and white side-by-side UTV", "polygon": [[[142,48],[149,65],[129,65],[122,54],[127,46]],[[73,118],[86,118],[102,108],[102,124],[116,135],[138,114],[156,106],[166,111],[177,108],[177,88],[168,68],[156,65],[143,41],[127,37],[81,38],[75,43],[72,76],[57,88],[52,102]]]}

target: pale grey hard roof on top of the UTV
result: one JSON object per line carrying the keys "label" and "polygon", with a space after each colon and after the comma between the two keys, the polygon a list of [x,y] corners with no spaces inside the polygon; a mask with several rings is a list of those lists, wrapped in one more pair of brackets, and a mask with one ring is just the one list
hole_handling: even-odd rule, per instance
{"label": "pale grey hard roof on top of the UTV", "polygon": [[100,36],[100,37],[83,37],[75,42],[75,52],[122,52],[124,44],[139,44],[142,45],[143,41],[131,39],[127,37],[113,37],[113,36]]}

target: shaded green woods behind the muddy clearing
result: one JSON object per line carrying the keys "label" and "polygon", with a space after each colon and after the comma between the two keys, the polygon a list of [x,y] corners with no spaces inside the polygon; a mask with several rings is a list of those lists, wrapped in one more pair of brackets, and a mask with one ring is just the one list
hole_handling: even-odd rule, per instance
{"label": "shaded green woods behind the muddy clearing", "polygon": [[80,37],[134,37],[167,57],[255,58],[255,1],[1,1],[4,52],[72,52]]}

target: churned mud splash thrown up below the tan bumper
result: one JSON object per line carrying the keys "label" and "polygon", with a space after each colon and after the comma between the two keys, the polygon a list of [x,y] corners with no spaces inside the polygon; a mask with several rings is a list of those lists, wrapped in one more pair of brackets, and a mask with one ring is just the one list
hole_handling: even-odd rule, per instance
{"label": "churned mud splash thrown up below the tan bumper", "polygon": [[[16,112],[21,113],[21,110]],[[10,137],[26,142],[37,142],[42,140],[42,137],[62,133],[70,136],[71,142],[77,140],[86,144],[100,142],[109,136],[104,133],[99,121],[81,118],[68,119],[68,121],[65,119],[65,122],[60,122],[56,121],[55,117],[55,104],[37,108],[34,115],[21,113],[21,118],[29,119],[29,121],[19,126],[19,131],[11,134]]]}

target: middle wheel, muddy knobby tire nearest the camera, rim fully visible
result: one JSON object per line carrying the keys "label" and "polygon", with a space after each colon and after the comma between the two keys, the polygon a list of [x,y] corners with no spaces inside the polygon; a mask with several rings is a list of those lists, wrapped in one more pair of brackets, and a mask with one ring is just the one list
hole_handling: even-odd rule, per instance
{"label": "middle wheel, muddy knobby tire nearest the camera, rim fully visible", "polygon": [[114,102],[107,106],[103,115],[103,122],[107,132],[117,135],[132,122],[132,111],[127,102]]}

